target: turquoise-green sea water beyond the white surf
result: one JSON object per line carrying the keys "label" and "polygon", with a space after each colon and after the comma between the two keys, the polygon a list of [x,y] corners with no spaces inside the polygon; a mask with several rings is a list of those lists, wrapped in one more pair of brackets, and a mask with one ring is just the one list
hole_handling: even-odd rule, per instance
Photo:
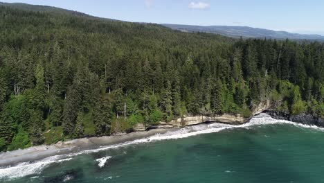
{"label": "turquoise-green sea water beyond the white surf", "polygon": [[[3,177],[2,181],[324,182],[322,129],[289,123],[225,126],[213,133],[65,157],[24,177]],[[100,168],[96,159],[102,157],[107,162]]]}

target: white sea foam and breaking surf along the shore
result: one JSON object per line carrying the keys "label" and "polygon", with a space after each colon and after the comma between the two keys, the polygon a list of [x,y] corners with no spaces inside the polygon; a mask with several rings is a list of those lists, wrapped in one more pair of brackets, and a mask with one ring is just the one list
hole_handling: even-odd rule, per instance
{"label": "white sea foam and breaking surf along the shore", "polygon": [[[162,140],[168,140],[168,139],[183,139],[187,137],[197,136],[199,134],[208,134],[213,132],[219,132],[226,129],[233,129],[233,128],[251,128],[255,125],[273,125],[273,124],[290,124],[295,125],[299,128],[312,128],[314,130],[324,131],[324,128],[319,128],[315,125],[304,125],[300,123],[294,123],[291,121],[285,121],[285,120],[277,120],[271,118],[268,114],[259,114],[258,116],[254,116],[249,123],[244,123],[242,125],[229,125],[229,124],[222,124],[222,123],[213,123],[209,125],[195,125],[195,126],[188,126],[186,128],[181,128],[176,131],[172,132],[166,132],[163,134],[155,134],[151,137],[147,137],[144,139],[136,139],[134,141],[127,141],[125,143],[118,143],[111,146],[103,146],[96,149],[91,150],[82,150],[79,153],[71,153],[67,155],[55,155],[52,157],[47,157],[45,159],[42,159],[39,162],[35,162],[33,164],[29,163],[21,163],[17,166],[12,166],[9,168],[2,168],[0,169],[0,179],[3,177],[9,177],[9,178],[15,178],[15,177],[24,177],[26,175],[33,175],[36,173],[42,172],[48,164],[52,164],[55,162],[65,162],[70,160],[72,157],[83,155],[83,154],[89,154],[89,153],[97,153],[102,150],[109,150],[113,148],[120,148],[123,146],[129,146],[129,145],[135,145],[138,143],[149,143],[152,141],[162,141]],[[68,158],[67,158],[68,157]],[[64,159],[66,158],[66,159]],[[107,158],[107,157],[106,157]],[[109,157],[110,158],[110,157]],[[107,159],[109,159],[107,158]],[[107,159],[106,162],[107,162]],[[98,159],[96,159],[98,161]],[[105,165],[105,163],[104,163]],[[99,164],[100,166],[100,164]],[[103,166],[103,165],[102,165]]]}

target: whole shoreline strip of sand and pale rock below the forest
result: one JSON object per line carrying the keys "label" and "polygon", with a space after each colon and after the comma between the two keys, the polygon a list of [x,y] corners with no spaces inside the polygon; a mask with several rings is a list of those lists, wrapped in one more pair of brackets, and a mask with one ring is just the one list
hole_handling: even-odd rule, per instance
{"label": "whole shoreline strip of sand and pale rock below the forest", "polygon": [[[282,119],[284,117],[280,117],[280,115],[274,115],[273,111],[271,110],[263,110],[262,112],[268,114],[273,119]],[[262,112],[255,112],[253,116]],[[185,118],[185,120],[182,118],[171,121],[169,123],[161,122],[154,128],[139,128],[137,131],[129,132],[126,134],[113,134],[110,136],[102,137],[85,137],[81,139],[72,139],[69,141],[60,141],[52,145],[32,146],[26,149],[19,149],[8,151],[6,153],[0,153],[0,168],[4,168],[6,166],[15,166],[16,164],[23,162],[38,161],[56,155],[69,155],[73,153],[80,153],[83,150],[96,150],[105,146],[118,145],[120,143],[126,143],[137,139],[144,139],[145,137],[151,137],[156,134],[165,134],[166,132],[173,132],[175,130],[181,129],[181,127],[186,126],[194,126],[203,123],[225,123],[231,125],[240,125],[248,123],[253,118],[253,116],[251,118],[246,119],[242,118],[241,116],[229,114],[224,114],[223,116],[215,117],[187,116],[187,119]],[[286,120],[300,123],[300,121],[295,121],[287,118]],[[185,121],[185,123],[183,123],[183,121]],[[316,125],[316,123],[305,123],[305,121],[302,124]]]}

